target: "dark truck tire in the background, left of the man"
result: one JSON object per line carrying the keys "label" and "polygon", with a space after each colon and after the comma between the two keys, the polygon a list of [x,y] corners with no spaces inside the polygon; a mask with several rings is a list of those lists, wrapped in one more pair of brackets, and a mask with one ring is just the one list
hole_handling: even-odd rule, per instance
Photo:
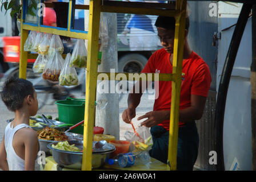
{"label": "dark truck tire in the background, left of the man", "polygon": [[147,63],[147,58],[139,53],[124,55],[118,60],[118,72],[140,73]]}

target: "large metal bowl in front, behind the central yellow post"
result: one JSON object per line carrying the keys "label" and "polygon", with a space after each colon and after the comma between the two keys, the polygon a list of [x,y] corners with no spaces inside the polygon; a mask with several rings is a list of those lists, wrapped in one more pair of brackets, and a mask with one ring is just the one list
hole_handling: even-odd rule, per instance
{"label": "large metal bowl in front, behind the central yellow post", "polygon": [[[83,141],[75,140],[68,141],[69,144],[75,144],[81,151],[83,150]],[[95,142],[93,142],[94,145]],[[71,169],[81,169],[82,168],[82,156],[83,152],[71,152],[58,150],[51,147],[51,145],[56,145],[57,143],[49,143],[47,147],[53,153],[53,159],[59,166]],[[105,165],[106,159],[109,159],[109,156],[112,152],[115,151],[115,146],[113,144],[107,143],[105,150],[103,152],[93,152],[91,166],[93,169],[103,167]]]}

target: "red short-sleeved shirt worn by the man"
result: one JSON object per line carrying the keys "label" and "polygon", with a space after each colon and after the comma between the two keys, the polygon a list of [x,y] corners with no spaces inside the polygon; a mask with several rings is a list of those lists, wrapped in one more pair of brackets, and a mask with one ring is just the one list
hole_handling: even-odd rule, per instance
{"label": "red short-sleeved shirt worn by the man", "polygon": [[[155,51],[142,70],[142,73],[172,73],[173,65],[169,60],[170,53],[164,48]],[[207,97],[211,84],[211,74],[208,65],[194,51],[182,63],[182,84],[179,109],[191,105],[191,95]],[[155,102],[153,110],[170,110],[171,107],[171,81],[155,83]],[[169,130],[170,121],[165,120],[159,124]],[[179,127],[184,125],[179,121]]]}

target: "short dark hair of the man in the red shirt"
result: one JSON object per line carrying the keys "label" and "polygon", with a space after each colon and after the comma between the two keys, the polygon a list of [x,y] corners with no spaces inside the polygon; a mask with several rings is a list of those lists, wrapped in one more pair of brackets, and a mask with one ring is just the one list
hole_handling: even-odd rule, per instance
{"label": "short dark hair of the man in the red shirt", "polygon": [[[171,16],[158,16],[155,26],[167,30],[175,30],[175,18]],[[185,29],[189,31],[189,17],[186,18]]]}

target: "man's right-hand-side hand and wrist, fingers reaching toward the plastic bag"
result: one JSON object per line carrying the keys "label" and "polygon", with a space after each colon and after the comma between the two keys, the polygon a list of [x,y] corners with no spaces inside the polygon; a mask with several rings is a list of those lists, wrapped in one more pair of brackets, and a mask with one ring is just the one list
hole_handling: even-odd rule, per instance
{"label": "man's right-hand-side hand and wrist, fingers reaching toward the plastic bag", "polygon": [[170,119],[170,110],[159,110],[159,111],[150,111],[141,117],[138,117],[138,120],[147,118],[145,121],[141,122],[141,126],[144,125],[146,127],[153,127]]}

